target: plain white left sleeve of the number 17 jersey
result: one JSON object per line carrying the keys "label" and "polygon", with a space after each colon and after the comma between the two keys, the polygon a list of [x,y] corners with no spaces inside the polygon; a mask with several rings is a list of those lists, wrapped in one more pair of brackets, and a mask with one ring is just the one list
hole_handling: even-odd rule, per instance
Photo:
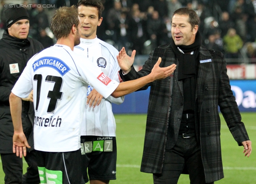
{"label": "plain white left sleeve of the number 17 jersey", "polygon": [[27,98],[33,89],[33,82],[31,76],[32,65],[30,61],[28,61],[27,66],[25,67],[16,84],[12,88],[12,93],[20,98]]}

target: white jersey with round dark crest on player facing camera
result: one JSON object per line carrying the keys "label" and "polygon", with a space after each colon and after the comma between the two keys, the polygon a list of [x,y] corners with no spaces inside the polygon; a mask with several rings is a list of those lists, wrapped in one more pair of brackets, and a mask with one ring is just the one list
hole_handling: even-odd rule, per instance
{"label": "white jersey with round dark crest on player facing camera", "polygon": [[[84,62],[91,61],[92,64],[108,75],[110,79],[122,82],[119,76],[120,67],[116,56],[118,50],[112,45],[98,39],[80,39],[80,45],[74,47],[74,52],[83,56]],[[89,59],[89,60],[88,60]],[[94,86],[88,86],[87,96]],[[111,103],[121,104],[124,102],[124,96],[114,98],[102,98],[99,106],[95,108],[86,105],[84,119],[81,125],[81,135],[95,136],[116,136],[116,122],[112,112]]]}

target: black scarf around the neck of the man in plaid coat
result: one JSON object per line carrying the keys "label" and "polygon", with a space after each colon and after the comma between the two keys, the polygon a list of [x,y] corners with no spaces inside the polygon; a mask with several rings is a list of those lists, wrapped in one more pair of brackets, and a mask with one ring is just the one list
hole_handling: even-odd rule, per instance
{"label": "black scarf around the neck of the man in plaid coat", "polygon": [[[199,31],[196,34],[195,42],[191,45],[179,45],[178,47],[188,54],[183,54],[178,50],[174,40],[171,39],[171,47],[178,58],[178,80],[183,82],[183,94],[184,94],[184,108],[183,112],[195,110],[195,92],[196,92],[196,78],[197,78],[197,66],[199,62],[199,48],[202,44],[202,37]],[[194,51],[194,54],[190,53]]]}

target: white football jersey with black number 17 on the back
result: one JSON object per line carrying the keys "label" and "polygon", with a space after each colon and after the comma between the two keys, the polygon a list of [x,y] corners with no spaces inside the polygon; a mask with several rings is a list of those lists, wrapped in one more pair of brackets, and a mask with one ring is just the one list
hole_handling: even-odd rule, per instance
{"label": "white football jersey with black number 17 on the back", "polygon": [[88,84],[108,98],[119,83],[66,45],[54,45],[28,61],[12,92],[26,98],[34,90],[36,150],[80,149],[80,125]]}

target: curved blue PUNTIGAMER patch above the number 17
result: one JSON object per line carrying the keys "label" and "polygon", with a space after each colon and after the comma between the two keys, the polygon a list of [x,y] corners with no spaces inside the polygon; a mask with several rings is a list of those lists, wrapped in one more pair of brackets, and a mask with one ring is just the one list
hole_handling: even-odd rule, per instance
{"label": "curved blue PUNTIGAMER patch above the number 17", "polygon": [[62,76],[70,70],[70,68],[68,67],[68,65],[66,65],[66,63],[64,63],[64,61],[56,57],[41,57],[40,59],[36,60],[32,65],[34,72],[42,67],[53,68],[57,70]]}

